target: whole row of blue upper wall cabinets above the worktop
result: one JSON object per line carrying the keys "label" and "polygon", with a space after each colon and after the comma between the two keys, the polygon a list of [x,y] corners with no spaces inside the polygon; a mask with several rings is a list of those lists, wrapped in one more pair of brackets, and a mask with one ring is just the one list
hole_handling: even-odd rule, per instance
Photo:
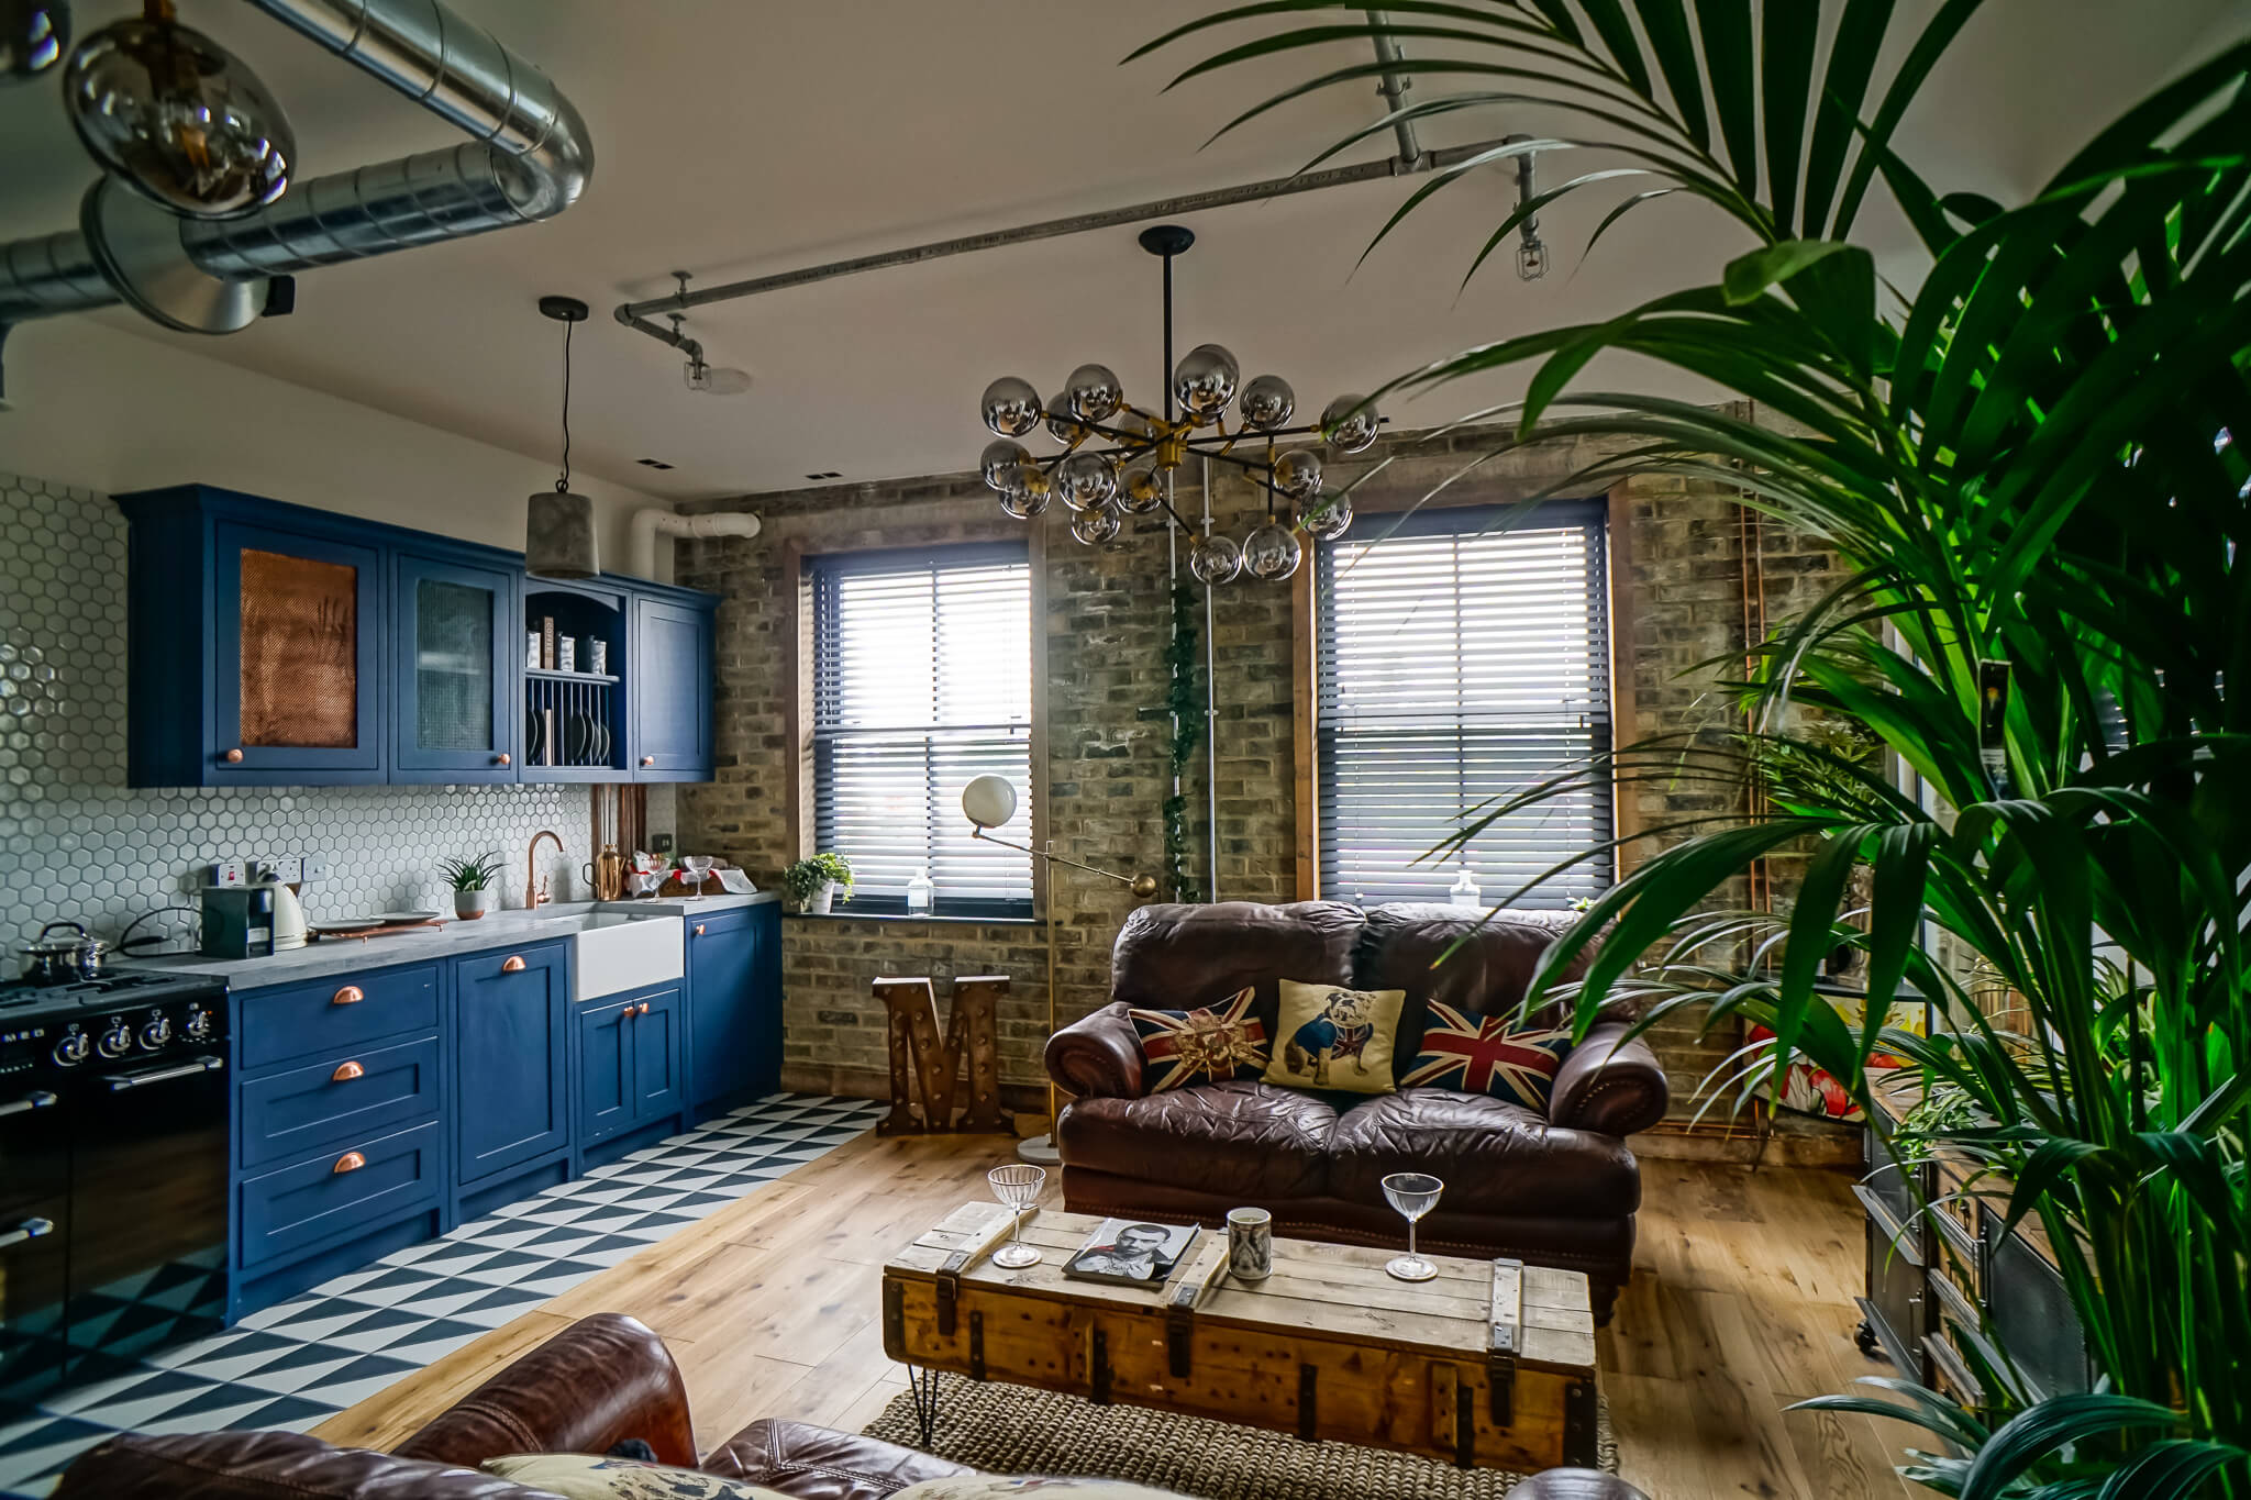
{"label": "whole row of blue upper wall cabinets above the worktop", "polygon": [[[711,776],[709,594],[200,484],[117,506],[135,787]],[[542,621],[572,668],[527,666]]]}

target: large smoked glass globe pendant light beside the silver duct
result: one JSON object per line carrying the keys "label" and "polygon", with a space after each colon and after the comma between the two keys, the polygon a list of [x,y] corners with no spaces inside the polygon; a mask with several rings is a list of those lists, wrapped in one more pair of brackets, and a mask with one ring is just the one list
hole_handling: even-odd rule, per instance
{"label": "large smoked glass globe pendant light beside the silver duct", "polygon": [[182,27],[171,0],[72,47],[63,108],[106,173],[182,218],[254,214],[297,169],[281,106],[248,63]]}

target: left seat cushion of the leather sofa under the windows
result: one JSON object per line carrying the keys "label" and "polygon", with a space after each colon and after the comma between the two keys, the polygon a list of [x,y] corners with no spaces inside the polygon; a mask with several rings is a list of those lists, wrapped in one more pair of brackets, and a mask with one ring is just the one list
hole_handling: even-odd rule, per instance
{"label": "left seat cushion of the leather sofa under the windows", "polygon": [[1209,1084],[1141,1100],[1074,1100],[1056,1120],[1056,1147],[1067,1167],[1261,1203],[1326,1190],[1335,1124],[1330,1104],[1292,1088]]}

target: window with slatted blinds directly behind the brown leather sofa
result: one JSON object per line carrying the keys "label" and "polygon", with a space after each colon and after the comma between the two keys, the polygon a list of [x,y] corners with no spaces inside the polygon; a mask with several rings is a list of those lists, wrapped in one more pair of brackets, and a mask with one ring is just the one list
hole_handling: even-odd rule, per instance
{"label": "window with slatted blinds directly behind the brown leather sofa", "polygon": [[[1443,902],[1456,859],[1423,859],[1461,814],[1609,747],[1603,501],[1362,517],[1319,551],[1321,895]],[[1609,787],[1501,819],[1468,848],[1497,902],[1609,832]],[[1594,859],[1526,906],[1609,884]]]}

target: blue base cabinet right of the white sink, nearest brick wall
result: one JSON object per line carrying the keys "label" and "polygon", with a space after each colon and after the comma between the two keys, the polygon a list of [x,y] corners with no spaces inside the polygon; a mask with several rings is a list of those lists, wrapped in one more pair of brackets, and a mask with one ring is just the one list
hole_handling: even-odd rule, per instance
{"label": "blue base cabinet right of the white sink, nearest brick wall", "polygon": [[689,1102],[698,1120],[781,1088],[781,906],[689,920]]}

